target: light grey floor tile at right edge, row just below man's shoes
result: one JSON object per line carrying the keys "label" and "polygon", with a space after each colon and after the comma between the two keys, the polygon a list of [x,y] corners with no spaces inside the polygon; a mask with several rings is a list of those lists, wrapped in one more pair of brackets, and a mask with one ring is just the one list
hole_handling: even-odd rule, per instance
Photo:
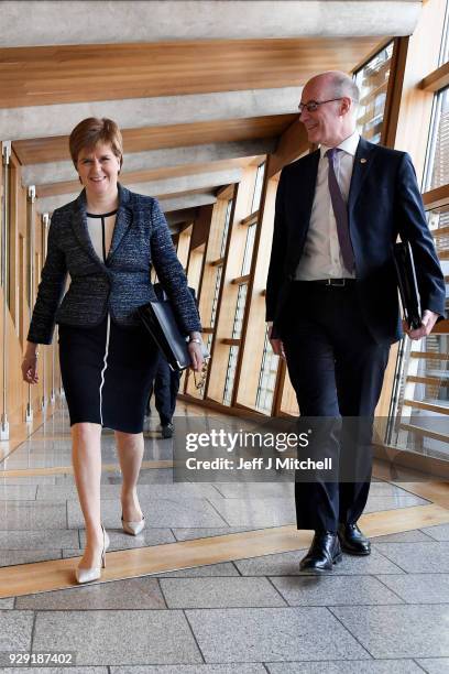
{"label": "light grey floor tile at right edge, row just below man's shoes", "polygon": [[406,604],[449,604],[449,573],[379,576]]}

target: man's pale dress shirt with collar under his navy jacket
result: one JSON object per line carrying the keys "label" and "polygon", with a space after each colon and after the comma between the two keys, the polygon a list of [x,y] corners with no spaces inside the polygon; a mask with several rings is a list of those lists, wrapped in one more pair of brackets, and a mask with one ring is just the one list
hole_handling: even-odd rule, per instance
{"label": "man's pale dress shirt with collar under his navy jacket", "polygon": [[[354,131],[352,135],[349,135],[342,143],[337,145],[341,149],[341,152],[337,152],[333,163],[337,181],[346,202],[348,202],[352,167],[359,140],[360,134]],[[328,185],[329,160],[325,156],[327,150],[329,148],[326,145],[320,146],[310,225],[304,251],[296,269],[296,281],[353,279],[355,276],[355,273],[351,273],[346,269],[341,257],[336,216],[333,215]]]}

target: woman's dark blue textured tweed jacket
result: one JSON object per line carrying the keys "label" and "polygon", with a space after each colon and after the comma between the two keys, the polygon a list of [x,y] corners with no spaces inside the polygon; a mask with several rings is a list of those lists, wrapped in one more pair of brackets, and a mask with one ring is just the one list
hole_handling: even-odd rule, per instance
{"label": "woman's dark blue textured tweed jacket", "polygon": [[[103,263],[90,241],[81,192],[75,202],[53,214],[29,341],[51,344],[55,322],[94,327],[108,311],[120,325],[140,325],[138,306],[156,300],[150,279],[152,264],[172,300],[180,329],[186,335],[200,330],[197,307],[156,199],[119,185],[119,210]],[[70,285],[59,306],[67,273]]]}

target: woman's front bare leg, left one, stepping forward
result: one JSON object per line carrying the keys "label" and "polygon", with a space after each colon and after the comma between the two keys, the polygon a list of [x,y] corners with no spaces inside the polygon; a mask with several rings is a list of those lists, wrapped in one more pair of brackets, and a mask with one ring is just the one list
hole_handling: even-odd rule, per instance
{"label": "woman's front bare leg, left one, stepping forward", "polygon": [[86,548],[81,568],[99,566],[103,544],[101,531],[101,426],[80,423],[72,426],[72,460],[79,504],[86,524]]}

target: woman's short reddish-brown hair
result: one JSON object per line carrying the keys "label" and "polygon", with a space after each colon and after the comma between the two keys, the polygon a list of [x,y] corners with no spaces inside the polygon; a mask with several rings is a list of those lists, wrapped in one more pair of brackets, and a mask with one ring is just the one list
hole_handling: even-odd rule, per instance
{"label": "woman's short reddish-brown hair", "polygon": [[75,127],[68,139],[72,161],[75,168],[80,151],[95,148],[98,143],[109,143],[112,152],[123,163],[123,139],[118,124],[106,117],[88,117]]}

